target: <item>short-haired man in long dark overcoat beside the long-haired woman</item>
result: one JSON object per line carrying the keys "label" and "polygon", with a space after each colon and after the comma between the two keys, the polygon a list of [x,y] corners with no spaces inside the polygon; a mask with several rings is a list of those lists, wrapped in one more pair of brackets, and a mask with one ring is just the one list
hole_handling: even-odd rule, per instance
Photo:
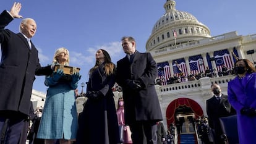
{"label": "short-haired man in long dark overcoat beside the long-haired woman", "polygon": [[156,122],[162,121],[160,103],[155,90],[158,75],[156,62],[150,53],[136,50],[131,36],[122,37],[126,56],[117,61],[116,82],[122,87],[124,119],[132,132],[132,143],[157,143]]}

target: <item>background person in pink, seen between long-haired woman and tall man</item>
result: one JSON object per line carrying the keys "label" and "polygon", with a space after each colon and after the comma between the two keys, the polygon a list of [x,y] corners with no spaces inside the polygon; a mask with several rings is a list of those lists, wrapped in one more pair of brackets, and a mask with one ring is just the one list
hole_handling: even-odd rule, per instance
{"label": "background person in pink, seen between long-haired woman and tall man", "polygon": [[125,120],[124,120],[124,100],[122,97],[118,99],[116,114],[117,114],[117,121],[119,125],[120,139],[122,143],[124,144],[132,143],[132,138],[130,137],[131,136],[130,127],[129,125],[125,124]]}

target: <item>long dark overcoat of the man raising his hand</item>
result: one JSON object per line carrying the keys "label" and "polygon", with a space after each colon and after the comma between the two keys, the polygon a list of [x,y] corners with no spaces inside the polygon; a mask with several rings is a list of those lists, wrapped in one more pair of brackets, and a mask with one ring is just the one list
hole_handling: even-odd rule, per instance
{"label": "long dark overcoat of the man raising his hand", "polygon": [[[22,33],[4,29],[13,18],[7,11],[0,14],[0,43],[2,58],[0,63],[0,112],[19,112],[28,115],[32,84],[36,75],[50,75],[51,67],[41,67],[38,51],[32,49]],[[6,112],[7,111],[7,112]]]}

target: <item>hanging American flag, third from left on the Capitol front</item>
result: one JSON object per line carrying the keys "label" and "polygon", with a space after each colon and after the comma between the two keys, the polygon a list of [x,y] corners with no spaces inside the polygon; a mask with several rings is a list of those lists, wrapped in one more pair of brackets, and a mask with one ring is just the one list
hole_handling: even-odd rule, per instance
{"label": "hanging American flag, third from left on the Capitol front", "polygon": [[[200,61],[202,62],[202,66],[200,66]],[[189,66],[190,66],[190,72],[192,72],[192,74],[205,72],[205,65],[203,62],[203,57],[201,55],[190,56]]]}

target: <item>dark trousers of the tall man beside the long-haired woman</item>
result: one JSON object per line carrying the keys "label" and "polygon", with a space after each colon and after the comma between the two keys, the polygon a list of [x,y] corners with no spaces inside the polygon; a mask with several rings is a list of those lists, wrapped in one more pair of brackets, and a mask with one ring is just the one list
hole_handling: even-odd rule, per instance
{"label": "dark trousers of the tall man beside the long-haired woman", "polygon": [[[133,144],[156,144],[156,122],[135,122],[129,125]],[[145,136],[145,137],[144,137]]]}

